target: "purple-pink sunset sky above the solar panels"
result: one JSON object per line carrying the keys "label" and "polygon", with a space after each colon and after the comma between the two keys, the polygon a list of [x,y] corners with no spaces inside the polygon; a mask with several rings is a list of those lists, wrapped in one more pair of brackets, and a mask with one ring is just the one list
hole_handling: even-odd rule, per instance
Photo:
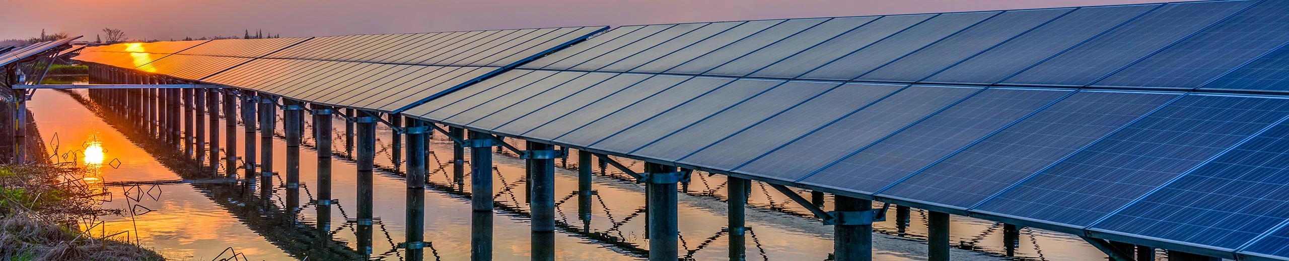
{"label": "purple-pink sunset sky above the solar panels", "polygon": [[[103,27],[130,39],[437,32],[624,26],[771,18],[940,13],[1163,0],[34,0],[6,3],[0,39],[41,28],[94,40]],[[22,12],[14,12],[22,10]]]}

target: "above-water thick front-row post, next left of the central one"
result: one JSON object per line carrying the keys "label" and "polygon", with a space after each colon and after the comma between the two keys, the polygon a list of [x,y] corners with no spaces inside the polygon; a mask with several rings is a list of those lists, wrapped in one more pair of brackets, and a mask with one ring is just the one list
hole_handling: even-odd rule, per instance
{"label": "above-water thick front-row post, next left of the central one", "polygon": [[[532,203],[528,204],[532,213],[532,231],[556,230],[556,159],[554,145],[545,143],[527,143],[528,174],[532,179]],[[538,248],[534,246],[534,251]]]}

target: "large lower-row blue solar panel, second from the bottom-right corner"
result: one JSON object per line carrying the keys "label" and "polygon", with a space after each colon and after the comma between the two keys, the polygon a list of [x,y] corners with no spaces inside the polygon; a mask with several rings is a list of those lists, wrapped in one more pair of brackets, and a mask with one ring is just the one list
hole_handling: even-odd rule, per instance
{"label": "large lower-row blue solar panel, second from the bottom-right corner", "polygon": [[1289,219],[1289,125],[1280,123],[1094,225],[1235,249]]}

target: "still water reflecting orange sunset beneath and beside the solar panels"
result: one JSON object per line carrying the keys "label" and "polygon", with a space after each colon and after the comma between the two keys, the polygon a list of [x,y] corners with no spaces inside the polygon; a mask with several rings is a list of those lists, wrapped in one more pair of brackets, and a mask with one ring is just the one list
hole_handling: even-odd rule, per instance
{"label": "still water reflecting orange sunset beneath and beside the solar panels", "polygon": [[[120,123],[90,100],[84,90],[41,90],[28,103],[52,159],[85,163],[94,168],[86,181],[107,194],[103,207],[125,210],[121,216],[102,216],[86,222],[97,237],[135,240],[171,260],[403,260],[400,243],[406,230],[407,189],[393,162],[392,131],[379,129],[374,177],[375,220],[366,230],[354,222],[356,176],[347,157],[344,121],[336,118],[333,135],[331,194],[338,203],[313,202],[320,188],[316,152],[305,131],[300,152],[300,188],[286,189],[284,176],[247,180],[244,170],[226,174],[199,168],[180,150],[156,144],[147,134]],[[278,113],[281,117],[281,113]],[[311,117],[305,117],[308,120]],[[220,147],[228,139],[220,118]],[[235,120],[236,121],[236,120]],[[281,126],[281,123],[278,123]],[[309,126],[305,130],[311,130]],[[285,141],[273,139],[273,172],[286,172]],[[236,157],[245,157],[245,134],[238,126]],[[259,141],[259,138],[254,138]],[[589,208],[579,210],[575,194],[575,161],[557,159],[558,230],[554,239],[534,238],[527,224],[525,162],[513,153],[498,152],[494,165],[494,198],[504,207],[495,215],[472,213],[469,186],[451,167],[451,141],[434,135],[429,147],[429,183],[425,201],[425,258],[469,260],[472,234],[491,231],[494,260],[528,260],[534,246],[556,249],[559,260],[643,260],[643,186],[612,170],[597,168]],[[522,141],[510,140],[510,144]],[[521,147],[522,148],[522,147]],[[224,148],[227,149],[227,148]],[[469,153],[467,153],[468,156]],[[254,156],[258,157],[259,156]],[[638,162],[620,159],[630,167]],[[220,161],[222,162],[222,161]],[[238,161],[241,162],[241,161]],[[467,159],[468,162],[468,159]],[[597,165],[598,166],[598,165]],[[204,171],[205,170],[205,171]],[[687,260],[727,260],[723,231],[724,185],[721,175],[696,172],[682,186],[679,202],[681,255]],[[762,184],[753,184],[748,211],[749,260],[828,260],[831,228],[819,224],[809,212],[788,197]],[[808,192],[800,192],[809,198]],[[588,204],[583,204],[588,207]],[[882,206],[875,206],[882,207]],[[583,213],[589,212],[589,219]],[[924,260],[926,212],[911,210],[897,219],[895,207],[887,221],[875,224],[875,260]],[[954,217],[954,260],[1105,260],[1096,248],[1076,237],[1022,228],[1020,239],[1004,243],[1003,225],[969,217]],[[906,220],[905,222],[900,222]],[[472,226],[472,224],[489,224]],[[370,249],[369,249],[370,248]],[[968,251],[969,249],[969,251]],[[1011,257],[1008,257],[1011,256]]]}

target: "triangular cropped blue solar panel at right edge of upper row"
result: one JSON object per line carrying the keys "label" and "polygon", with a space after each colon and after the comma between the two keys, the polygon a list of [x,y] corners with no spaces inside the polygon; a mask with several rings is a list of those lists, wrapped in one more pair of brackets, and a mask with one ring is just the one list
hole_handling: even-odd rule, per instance
{"label": "triangular cropped blue solar panel at right edge of upper row", "polygon": [[1203,89],[1289,91],[1289,46],[1231,71]]}

